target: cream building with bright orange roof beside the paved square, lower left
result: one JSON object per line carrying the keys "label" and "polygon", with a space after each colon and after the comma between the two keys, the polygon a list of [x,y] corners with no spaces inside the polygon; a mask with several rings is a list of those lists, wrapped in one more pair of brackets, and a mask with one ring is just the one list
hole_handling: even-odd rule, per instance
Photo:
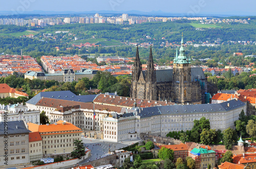
{"label": "cream building with bright orange roof beside the paved square, lower left", "polygon": [[66,121],[46,125],[29,123],[28,126],[32,132],[40,133],[44,157],[70,157],[74,151],[74,140],[81,139],[81,129]]}

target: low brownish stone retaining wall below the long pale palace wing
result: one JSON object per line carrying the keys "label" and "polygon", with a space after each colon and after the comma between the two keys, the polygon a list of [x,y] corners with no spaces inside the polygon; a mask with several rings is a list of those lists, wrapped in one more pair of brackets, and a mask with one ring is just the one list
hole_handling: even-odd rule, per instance
{"label": "low brownish stone retaining wall below the long pale palace wing", "polygon": [[148,135],[145,133],[140,133],[140,137],[144,140],[150,139],[152,142],[159,143],[162,145],[179,145],[181,140],[179,139],[174,139],[170,137],[159,137],[159,136],[154,136],[154,135]]}

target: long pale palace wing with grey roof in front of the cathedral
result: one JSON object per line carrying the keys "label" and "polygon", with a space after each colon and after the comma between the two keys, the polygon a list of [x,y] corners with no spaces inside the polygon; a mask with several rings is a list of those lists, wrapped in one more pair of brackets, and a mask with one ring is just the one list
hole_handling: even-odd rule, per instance
{"label": "long pale palace wing with grey roof in front of the cathedral", "polygon": [[[178,106],[176,108],[181,109],[183,105],[172,105],[162,106],[170,108],[168,110],[168,114],[164,114],[163,110],[161,110],[160,113],[159,110],[157,110],[155,107],[147,107],[140,108],[140,111],[135,110],[132,113],[128,113],[126,117],[119,117],[118,119],[116,119],[116,117],[106,117],[103,119],[104,139],[112,142],[121,142],[122,140],[137,139],[137,137],[140,136],[140,133],[166,136],[168,132],[172,131],[178,132],[181,130],[191,130],[194,126],[194,120],[200,120],[202,117],[209,119],[211,129],[220,129],[222,131],[229,127],[234,129],[234,121],[239,119],[239,114],[241,113],[242,109],[246,114],[247,105],[241,101],[237,101],[238,103],[236,105],[236,100],[232,100],[233,103],[230,105],[228,102],[226,104],[227,107],[230,107],[230,110],[219,108],[220,106],[218,104],[214,104],[214,106],[216,105],[215,108],[219,108],[218,111],[207,112],[206,109],[202,108],[201,111],[195,110],[183,113],[176,110],[176,114],[175,112],[173,113],[172,106]],[[210,104],[204,104],[203,106],[207,105]],[[232,108],[231,106],[237,107]],[[143,117],[150,113],[152,113],[152,116],[145,118]],[[125,116],[125,114],[122,116]],[[114,130],[112,127],[114,127]],[[115,130],[115,128],[117,130]]]}

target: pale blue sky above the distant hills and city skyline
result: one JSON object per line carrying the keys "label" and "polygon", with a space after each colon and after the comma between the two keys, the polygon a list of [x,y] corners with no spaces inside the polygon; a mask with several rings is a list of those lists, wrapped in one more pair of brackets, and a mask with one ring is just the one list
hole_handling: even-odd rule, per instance
{"label": "pale blue sky above the distant hills and city skyline", "polygon": [[0,11],[162,11],[186,15],[256,15],[255,0],[0,0]]}

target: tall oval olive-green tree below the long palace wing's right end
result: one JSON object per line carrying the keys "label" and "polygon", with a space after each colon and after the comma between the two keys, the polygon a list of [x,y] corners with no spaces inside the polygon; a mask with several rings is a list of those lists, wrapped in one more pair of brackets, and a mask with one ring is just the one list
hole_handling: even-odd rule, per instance
{"label": "tall oval olive-green tree below the long palace wing's right end", "polygon": [[229,127],[228,129],[223,131],[223,142],[227,150],[230,150],[232,148],[234,140],[237,140],[237,138],[238,136],[236,130],[233,130]]}

